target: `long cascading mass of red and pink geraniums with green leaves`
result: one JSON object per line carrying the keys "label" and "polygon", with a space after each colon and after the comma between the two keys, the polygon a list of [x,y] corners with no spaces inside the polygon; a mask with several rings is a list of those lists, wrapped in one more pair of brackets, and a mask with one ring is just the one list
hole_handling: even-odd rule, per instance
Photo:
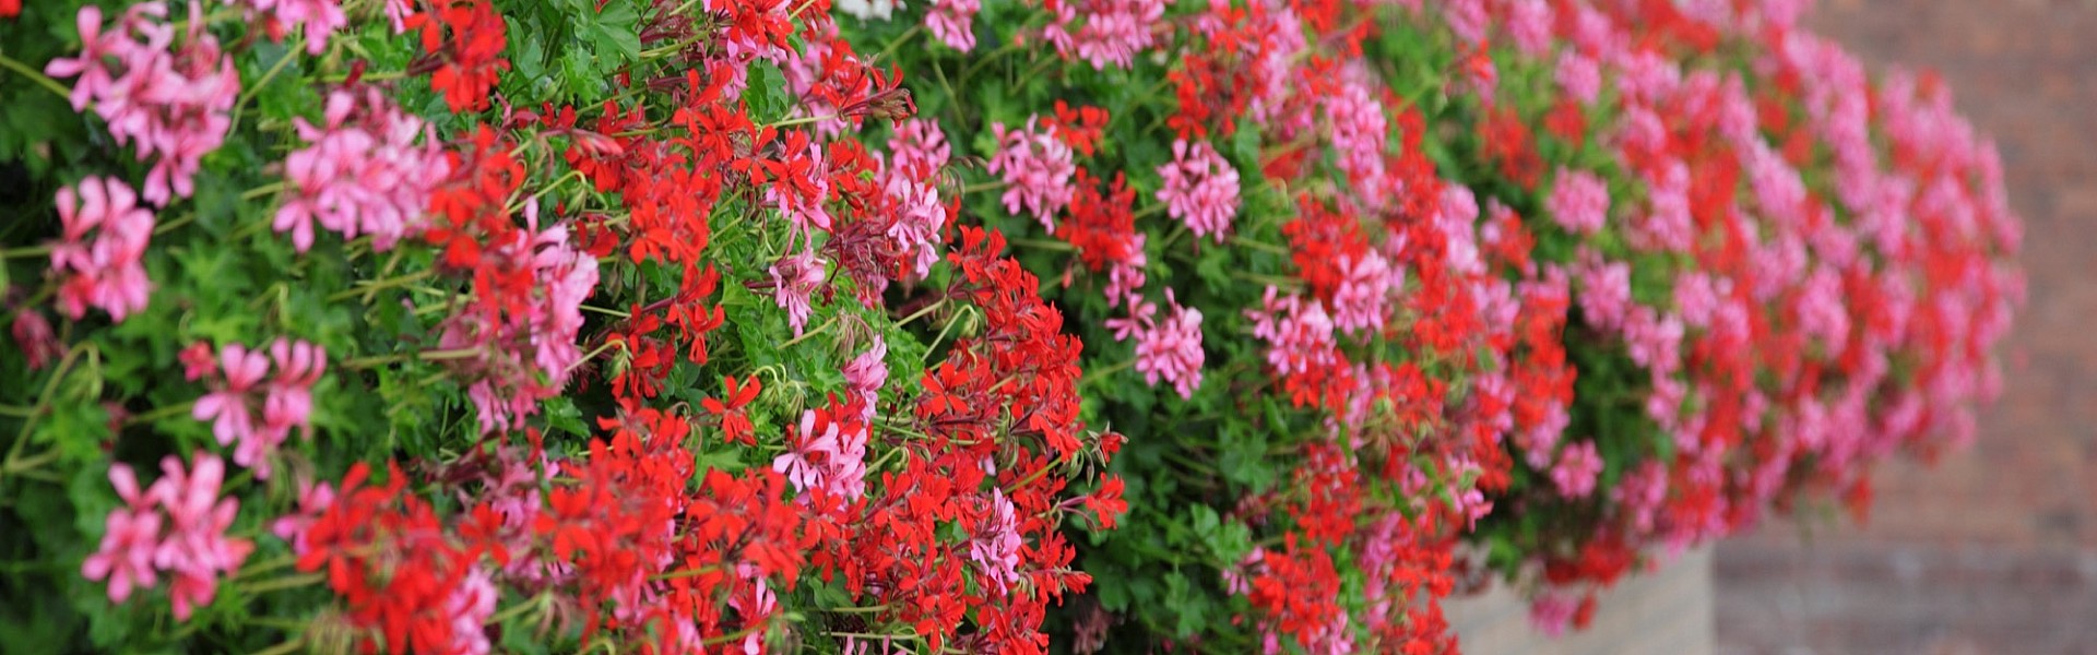
{"label": "long cascading mass of red and pink geraniums with green leaves", "polygon": [[2001,384],[1994,149],[1797,15],[0,0],[0,630],[1562,630]]}

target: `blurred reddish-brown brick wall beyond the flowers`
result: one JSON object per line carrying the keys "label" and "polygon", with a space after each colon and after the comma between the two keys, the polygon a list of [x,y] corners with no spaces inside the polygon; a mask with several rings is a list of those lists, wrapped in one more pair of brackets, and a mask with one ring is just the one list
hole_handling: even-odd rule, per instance
{"label": "blurred reddish-brown brick wall beyond the flowers", "polygon": [[2097,653],[2097,0],[1822,0],[1875,71],[1929,67],[2003,149],[2030,307],[1980,441],[1881,468],[1866,525],[1715,554],[1720,653]]}

